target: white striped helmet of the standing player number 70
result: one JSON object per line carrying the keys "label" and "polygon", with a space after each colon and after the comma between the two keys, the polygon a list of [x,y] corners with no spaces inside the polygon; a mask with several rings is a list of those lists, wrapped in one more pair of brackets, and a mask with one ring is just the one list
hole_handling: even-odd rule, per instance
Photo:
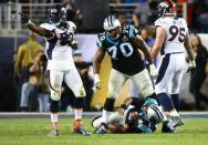
{"label": "white striped helmet of the standing player number 70", "polygon": [[110,15],[110,17],[105,18],[105,20],[103,22],[103,29],[105,31],[110,31],[110,30],[113,30],[113,29],[119,28],[119,27],[121,27],[121,22],[114,15]]}

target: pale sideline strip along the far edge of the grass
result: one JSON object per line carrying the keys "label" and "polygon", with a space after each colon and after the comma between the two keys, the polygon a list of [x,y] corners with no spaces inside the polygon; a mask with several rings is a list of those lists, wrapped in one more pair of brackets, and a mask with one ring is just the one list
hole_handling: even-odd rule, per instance
{"label": "pale sideline strip along the far edge of the grass", "polygon": [[[101,115],[101,112],[85,112],[84,117],[94,117]],[[185,118],[208,118],[208,112],[181,112],[180,115]],[[39,113],[39,112],[3,112],[0,113],[1,118],[49,118],[50,113]],[[73,117],[73,113],[60,113],[60,117],[69,118]]]}

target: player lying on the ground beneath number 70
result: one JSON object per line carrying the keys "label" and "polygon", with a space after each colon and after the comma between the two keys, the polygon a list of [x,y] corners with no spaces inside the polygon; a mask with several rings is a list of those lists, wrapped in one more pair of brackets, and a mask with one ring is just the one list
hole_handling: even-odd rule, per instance
{"label": "player lying on the ground beneath number 70", "polygon": [[[126,97],[121,108],[110,115],[106,128],[110,133],[154,133],[165,117],[155,100],[143,104],[138,97]],[[101,124],[101,115],[92,120],[95,131]]]}

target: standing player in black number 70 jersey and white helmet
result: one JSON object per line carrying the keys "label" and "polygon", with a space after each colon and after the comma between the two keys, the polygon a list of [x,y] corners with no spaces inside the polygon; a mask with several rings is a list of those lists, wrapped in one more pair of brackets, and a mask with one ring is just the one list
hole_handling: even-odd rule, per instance
{"label": "standing player in black number 70 jersey and white helmet", "polygon": [[[102,125],[97,130],[97,134],[104,134],[106,132],[105,124],[113,112],[117,93],[126,80],[133,80],[146,100],[157,100],[150,81],[150,76],[157,75],[157,70],[153,64],[152,56],[147,51],[145,42],[137,34],[134,27],[121,27],[119,21],[115,17],[110,15],[104,20],[103,28],[105,32],[98,34],[98,49],[93,61],[93,69],[95,73],[94,81],[97,89],[101,89],[100,70],[106,52],[111,56],[112,70],[110,74],[107,97],[102,115]],[[146,60],[148,61],[150,76],[145,68],[138,49],[143,51]],[[169,127],[167,132],[175,131]]]}

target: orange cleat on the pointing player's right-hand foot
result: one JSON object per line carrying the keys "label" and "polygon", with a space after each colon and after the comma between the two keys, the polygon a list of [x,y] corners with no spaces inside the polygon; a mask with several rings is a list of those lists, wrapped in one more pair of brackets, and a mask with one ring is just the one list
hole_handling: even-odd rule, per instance
{"label": "orange cleat on the pointing player's right-hand foot", "polygon": [[82,134],[82,135],[91,135],[92,133],[86,131],[84,127],[82,127],[82,122],[81,121],[74,121],[74,128],[73,128],[74,134]]}

